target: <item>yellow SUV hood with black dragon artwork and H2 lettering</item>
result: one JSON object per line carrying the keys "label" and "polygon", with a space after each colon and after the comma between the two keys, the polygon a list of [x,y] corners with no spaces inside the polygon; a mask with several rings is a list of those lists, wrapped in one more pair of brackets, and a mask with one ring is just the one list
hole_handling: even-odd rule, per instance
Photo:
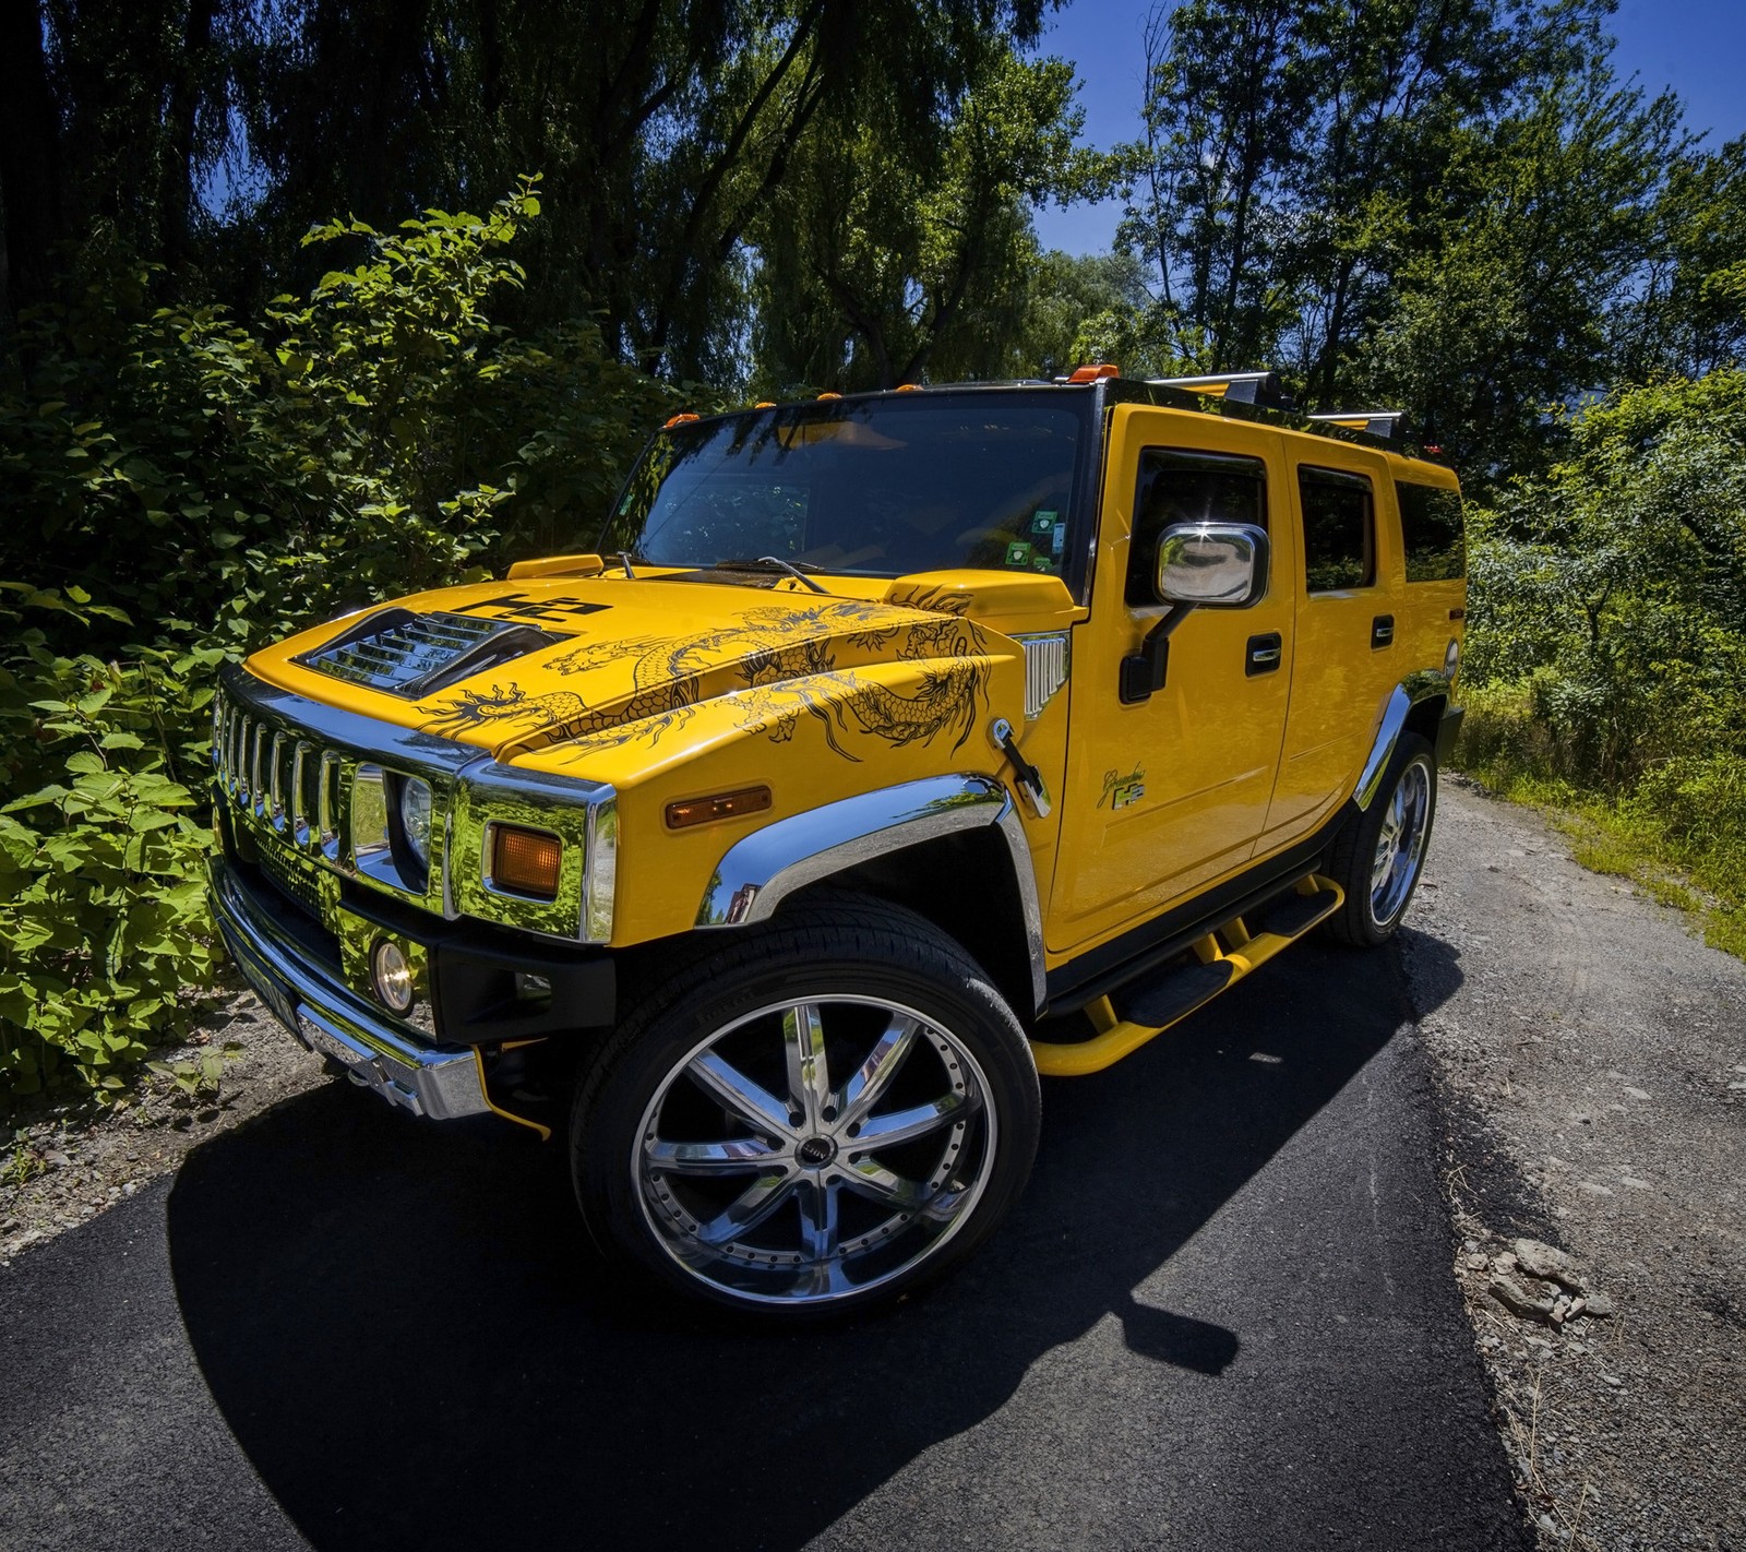
{"label": "yellow SUV hood with black dragon artwork and H2 lettering", "polygon": [[[417,594],[265,648],[248,670],[501,761],[552,745],[566,756],[648,749],[700,712],[691,747],[712,731],[784,742],[810,714],[852,758],[880,744],[953,749],[992,714],[1020,716],[1021,651],[966,618],[962,592],[873,583],[924,601],[908,608],[789,578],[697,576],[522,576]],[[1046,581],[1070,609],[1065,588]],[[953,613],[936,602],[946,594]]]}

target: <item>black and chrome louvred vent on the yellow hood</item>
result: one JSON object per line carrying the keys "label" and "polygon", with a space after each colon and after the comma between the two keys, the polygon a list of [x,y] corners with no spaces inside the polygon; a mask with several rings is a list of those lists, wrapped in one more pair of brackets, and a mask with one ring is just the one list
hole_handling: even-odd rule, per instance
{"label": "black and chrome louvred vent on the yellow hood", "polygon": [[382,609],[293,662],[333,679],[417,700],[564,639],[513,620]]}

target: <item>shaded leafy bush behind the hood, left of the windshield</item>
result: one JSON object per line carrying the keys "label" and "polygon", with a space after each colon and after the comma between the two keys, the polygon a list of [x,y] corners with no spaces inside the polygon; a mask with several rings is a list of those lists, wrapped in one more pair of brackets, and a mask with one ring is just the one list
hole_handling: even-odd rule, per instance
{"label": "shaded leafy bush behind the hood, left of the windshield", "polygon": [[487,216],[320,227],[304,241],[363,262],[258,328],[152,311],[126,264],[91,274],[77,307],[31,323],[0,391],[0,576],[243,651],[592,531],[676,395],[608,360],[590,323],[520,339],[491,321],[536,213],[526,182]]}

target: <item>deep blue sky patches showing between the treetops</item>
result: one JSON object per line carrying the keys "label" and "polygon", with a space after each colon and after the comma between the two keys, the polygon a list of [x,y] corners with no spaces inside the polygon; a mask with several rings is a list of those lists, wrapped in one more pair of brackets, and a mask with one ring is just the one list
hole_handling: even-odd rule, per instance
{"label": "deep blue sky patches showing between the treetops", "polygon": [[[1140,28],[1147,0],[1072,0],[1056,14],[1044,54],[1072,59],[1086,140],[1110,147],[1140,133]],[[1650,96],[1673,87],[1694,131],[1711,147],[1746,133],[1746,5],[1741,0],[1622,0],[1613,16],[1620,77],[1636,73]],[[1102,253],[1116,236],[1121,204],[1037,211],[1044,248]]]}

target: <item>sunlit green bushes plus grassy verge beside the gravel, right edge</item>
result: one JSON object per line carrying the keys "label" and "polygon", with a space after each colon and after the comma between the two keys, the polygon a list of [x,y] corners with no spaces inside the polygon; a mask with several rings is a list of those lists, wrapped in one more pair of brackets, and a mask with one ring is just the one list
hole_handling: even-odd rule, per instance
{"label": "sunlit green bushes plus grassy verge beside the gravel, right edge", "polygon": [[1746,374],[1627,389],[1570,433],[1547,478],[1472,515],[1458,761],[1582,810],[1638,871],[1683,868],[1739,951]]}

